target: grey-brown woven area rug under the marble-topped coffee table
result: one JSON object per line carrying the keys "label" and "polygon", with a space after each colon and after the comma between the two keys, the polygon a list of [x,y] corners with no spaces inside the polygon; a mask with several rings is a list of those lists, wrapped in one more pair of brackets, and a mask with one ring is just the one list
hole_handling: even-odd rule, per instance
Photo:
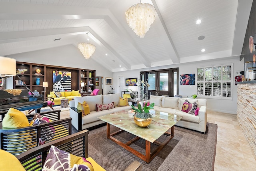
{"label": "grey-brown woven area rug under the marble-topped coffee table", "polygon": [[[106,137],[106,126],[91,130],[88,135],[89,157],[107,171],[122,171],[132,161],[142,162],[143,171],[212,171],[216,154],[217,125],[207,123],[205,134],[175,126],[174,138],[148,164]],[[118,128],[111,126],[112,130]],[[158,141],[163,141],[162,135]],[[122,132],[115,137],[126,142],[134,135]],[[138,140],[132,148],[145,152],[145,140]],[[152,144],[154,150],[156,145]]]}

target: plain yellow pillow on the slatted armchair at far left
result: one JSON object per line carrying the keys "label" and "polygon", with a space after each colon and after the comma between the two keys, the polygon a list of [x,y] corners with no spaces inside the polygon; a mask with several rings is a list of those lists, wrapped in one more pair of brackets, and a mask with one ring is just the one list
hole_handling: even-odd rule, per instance
{"label": "plain yellow pillow on the slatted armchair at far left", "polygon": [[3,127],[6,128],[20,128],[20,127],[28,127],[29,122],[28,118],[21,111],[10,108],[3,119]]}

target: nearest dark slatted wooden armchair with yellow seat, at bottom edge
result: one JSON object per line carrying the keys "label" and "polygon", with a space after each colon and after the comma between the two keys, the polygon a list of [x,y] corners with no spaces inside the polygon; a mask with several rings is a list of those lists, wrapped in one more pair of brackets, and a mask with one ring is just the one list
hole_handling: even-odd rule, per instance
{"label": "nearest dark slatted wooden armchair with yellow seat, at bottom edge", "polygon": [[[92,163],[95,171],[106,171],[98,163],[96,163],[94,159],[88,157],[88,133],[88,130],[79,131],[78,133],[74,133],[47,144],[35,147],[34,149],[28,150],[16,157],[26,170],[42,170],[42,166],[44,165],[48,151],[53,145],[62,151],[86,158],[90,163]],[[133,161],[128,167],[126,167],[126,169],[124,169],[124,171],[141,170],[142,163],[138,160]]]}

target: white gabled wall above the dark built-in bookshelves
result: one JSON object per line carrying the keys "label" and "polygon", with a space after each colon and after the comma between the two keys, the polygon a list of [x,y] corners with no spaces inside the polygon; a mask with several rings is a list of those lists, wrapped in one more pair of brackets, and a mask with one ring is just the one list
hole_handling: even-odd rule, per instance
{"label": "white gabled wall above the dark built-in bookshelves", "polygon": [[[14,58],[19,62],[96,70],[96,76],[103,76],[104,78],[113,77],[113,74],[110,71],[93,60],[93,56],[86,60],[78,48],[73,45],[8,55],[7,57]],[[12,81],[8,80],[8,85],[9,82]],[[110,85],[105,85],[104,83],[103,93],[106,94],[109,90]]]}

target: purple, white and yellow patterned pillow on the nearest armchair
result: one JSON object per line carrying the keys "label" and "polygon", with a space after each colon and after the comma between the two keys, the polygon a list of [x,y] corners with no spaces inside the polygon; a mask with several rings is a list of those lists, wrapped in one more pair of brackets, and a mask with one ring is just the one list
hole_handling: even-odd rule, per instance
{"label": "purple, white and yellow patterned pillow on the nearest armchair", "polygon": [[42,171],[94,171],[92,164],[84,157],[72,155],[51,146]]}

